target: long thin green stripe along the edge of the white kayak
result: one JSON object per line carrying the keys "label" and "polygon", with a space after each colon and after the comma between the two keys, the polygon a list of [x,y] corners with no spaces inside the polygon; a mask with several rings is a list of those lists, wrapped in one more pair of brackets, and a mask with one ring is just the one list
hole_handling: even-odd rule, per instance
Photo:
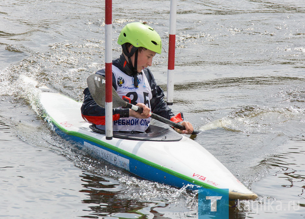
{"label": "long thin green stripe along the edge of the white kayak", "polygon": [[169,173],[170,175],[176,176],[176,177],[178,177],[178,178],[180,178],[180,179],[182,179],[182,180],[188,181],[188,182],[193,183],[193,184],[196,184],[196,185],[198,185],[198,186],[202,186],[202,187],[204,187],[204,188],[206,188],[206,189],[210,189],[210,190],[216,191],[216,192],[218,192],[218,193],[228,194],[228,191],[227,191],[227,190],[219,189],[219,188],[217,188],[217,187],[215,187],[215,186],[211,186],[211,185],[209,185],[209,184],[207,184],[207,183],[201,182],[201,181],[199,181],[199,180],[195,180],[195,179],[193,179],[193,178],[191,178],[191,177],[189,177],[189,176],[185,176],[185,175],[183,175],[183,174],[181,174],[181,173],[177,173],[176,171],[173,171],[173,170],[171,170],[171,169],[168,169],[168,168],[166,168],[166,167],[163,167],[163,166],[161,166],[161,165],[158,165],[158,164],[156,164],[156,163],[153,163],[153,162],[151,162],[151,161],[149,161],[149,160],[146,160],[146,159],[144,159],[144,158],[142,158],[142,157],[139,157],[139,156],[137,156],[137,155],[134,155],[134,154],[132,154],[132,153],[130,153],[130,152],[124,151],[124,150],[122,150],[122,149],[120,149],[120,148],[117,148],[117,147],[115,147],[115,146],[113,146],[113,145],[111,145],[111,144],[108,144],[107,142],[103,142],[103,141],[101,141],[101,140],[95,139],[95,138],[93,138],[93,137],[91,137],[91,136],[89,136],[89,135],[81,134],[81,133],[79,133],[79,132],[66,130],[66,129],[63,128],[61,125],[59,125],[51,116],[48,116],[48,117],[51,118],[52,123],[54,123],[62,132],[66,133],[67,135],[73,135],[73,136],[76,136],[76,137],[79,137],[79,138],[82,138],[82,139],[89,140],[89,141],[91,141],[91,142],[94,142],[94,143],[97,143],[97,144],[99,144],[99,145],[102,145],[102,146],[104,146],[104,147],[106,147],[106,148],[109,148],[109,149],[111,149],[111,150],[113,150],[113,151],[119,152],[119,153],[124,154],[124,155],[126,155],[126,156],[128,156],[128,157],[131,157],[131,158],[133,158],[133,159],[135,159],[135,160],[138,160],[138,161],[140,161],[140,162],[142,162],[142,163],[145,163],[145,164],[147,164],[147,165],[149,165],[149,166],[152,166],[152,167],[154,167],[154,168],[156,168],[156,169],[160,169],[160,170],[162,170],[163,172]]}

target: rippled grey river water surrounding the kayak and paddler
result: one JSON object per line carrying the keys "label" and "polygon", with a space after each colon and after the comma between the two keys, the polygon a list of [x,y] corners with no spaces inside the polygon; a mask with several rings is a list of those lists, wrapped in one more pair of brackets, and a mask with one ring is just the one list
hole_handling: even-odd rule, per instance
{"label": "rippled grey river water surrounding the kayak and paddler", "polygon": [[[305,217],[305,4],[178,1],[173,110],[259,195],[231,218]],[[147,21],[163,40],[152,72],[166,90],[170,1],[113,2],[113,38]],[[29,76],[78,101],[104,66],[104,2],[0,2],[0,216],[198,217],[198,195],[139,179],[61,139]],[[113,41],[113,57],[120,54]],[[285,209],[285,210],[284,210]]]}

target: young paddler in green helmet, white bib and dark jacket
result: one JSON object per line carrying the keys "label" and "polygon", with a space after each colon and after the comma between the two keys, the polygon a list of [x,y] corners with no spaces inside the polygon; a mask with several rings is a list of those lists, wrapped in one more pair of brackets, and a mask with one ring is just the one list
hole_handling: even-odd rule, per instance
{"label": "young paddler in green helmet, white bib and dark jacket", "polygon": [[[161,54],[162,43],[159,34],[146,22],[127,24],[121,31],[117,41],[122,45],[122,54],[112,61],[112,86],[117,94],[128,99],[131,104],[143,109],[138,113],[131,109],[113,109],[113,131],[145,132],[150,123],[150,111],[174,122],[183,121],[183,118],[174,116],[171,109],[164,102],[163,90],[148,68],[156,53]],[[105,69],[96,74],[105,77]],[[105,108],[100,107],[93,100],[88,87],[84,90],[84,102],[81,107],[83,118],[105,130]],[[178,133],[191,134],[192,124],[183,121],[185,130],[175,128]]]}

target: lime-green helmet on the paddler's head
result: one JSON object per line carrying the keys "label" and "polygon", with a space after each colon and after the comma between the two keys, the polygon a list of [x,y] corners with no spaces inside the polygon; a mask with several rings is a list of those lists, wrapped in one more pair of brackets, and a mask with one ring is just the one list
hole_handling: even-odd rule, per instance
{"label": "lime-green helmet on the paddler's head", "polygon": [[131,43],[135,47],[144,47],[161,54],[162,43],[159,34],[145,23],[129,23],[122,29],[117,43]]}

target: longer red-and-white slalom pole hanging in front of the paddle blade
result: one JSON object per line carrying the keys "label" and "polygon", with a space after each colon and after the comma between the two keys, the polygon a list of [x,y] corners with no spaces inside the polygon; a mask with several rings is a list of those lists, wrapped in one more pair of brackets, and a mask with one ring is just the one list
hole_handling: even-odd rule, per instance
{"label": "longer red-and-white slalom pole hanging in front of the paddle blade", "polygon": [[105,130],[112,139],[112,0],[105,1]]}

